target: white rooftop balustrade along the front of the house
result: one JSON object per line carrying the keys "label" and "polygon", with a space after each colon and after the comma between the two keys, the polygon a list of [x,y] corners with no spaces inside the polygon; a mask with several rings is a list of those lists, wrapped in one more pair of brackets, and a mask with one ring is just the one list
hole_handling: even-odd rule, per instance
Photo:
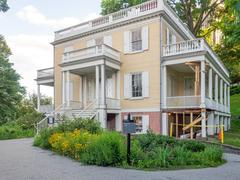
{"label": "white rooftop balustrade along the front of the house", "polygon": [[107,16],[94,19],[92,21],[88,21],[85,23],[78,24],[76,26],[72,26],[60,31],[56,31],[55,40],[59,40],[59,39],[73,36],[76,34],[84,33],[89,30],[93,30],[95,28],[113,24],[115,22],[117,23],[120,21],[126,21],[127,19],[130,19],[130,18],[156,12],[161,8],[160,2],[161,1],[159,0],[147,1],[143,4],[126,8],[121,11],[109,14]]}

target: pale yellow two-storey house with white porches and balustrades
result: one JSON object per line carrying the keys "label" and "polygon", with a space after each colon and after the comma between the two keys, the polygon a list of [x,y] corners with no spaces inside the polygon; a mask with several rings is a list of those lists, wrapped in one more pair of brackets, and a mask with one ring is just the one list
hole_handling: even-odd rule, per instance
{"label": "pale yellow two-storey house with white porches and balustrades", "polygon": [[[229,72],[164,0],[152,0],[55,32],[54,67],[38,71],[54,87],[49,114],[97,119],[122,130],[205,138],[230,127]],[[46,124],[45,118],[40,124]]]}

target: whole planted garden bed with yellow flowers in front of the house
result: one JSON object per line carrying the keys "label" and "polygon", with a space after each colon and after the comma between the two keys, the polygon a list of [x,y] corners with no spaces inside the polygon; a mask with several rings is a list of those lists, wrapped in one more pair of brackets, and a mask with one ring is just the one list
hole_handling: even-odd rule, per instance
{"label": "whole planted garden bed with yellow flowers in front of the house", "polygon": [[128,165],[123,134],[102,130],[93,120],[78,119],[65,125],[42,130],[35,137],[34,145],[99,166],[155,170],[214,167],[224,162],[221,146],[149,132],[132,137],[131,164]]}

